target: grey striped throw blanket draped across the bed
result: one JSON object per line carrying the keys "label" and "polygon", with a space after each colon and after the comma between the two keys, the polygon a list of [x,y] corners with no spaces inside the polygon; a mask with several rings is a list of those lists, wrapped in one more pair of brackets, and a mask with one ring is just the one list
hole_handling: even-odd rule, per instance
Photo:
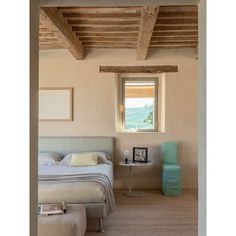
{"label": "grey striped throw blanket draped across the bed", "polygon": [[41,183],[71,183],[71,182],[95,182],[99,183],[104,191],[106,199],[106,207],[108,213],[112,213],[115,210],[115,199],[112,190],[112,185],[109,178],[104,174],[92,173],[92,174],[76,174],[76,175],[42,175],[38,180]]}

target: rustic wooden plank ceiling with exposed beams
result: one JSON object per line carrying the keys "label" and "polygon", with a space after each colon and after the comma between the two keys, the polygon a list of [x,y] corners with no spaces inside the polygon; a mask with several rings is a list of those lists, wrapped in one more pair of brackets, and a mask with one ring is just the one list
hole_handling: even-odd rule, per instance
{"label": "rustic wooden plank ceiling with exposed beams", "polygon": [[[47,9],[41,9],[40,49],[68,48],[67,35],[58,37],[63,32],[59,34],[45,25],[47,12]],[[133,48],[137,50],[137,59],[143,60],[149,48],[197,48],[198,46],[197,5],[58,7],[53,8],[53,12],[56,12],[54,17],[60,16],[57,21],[63,20],[63,27],[71,31],[69,38],[76,36],[77,40],[73,39],[69,42],[72,48],[77,48],[78,45],[73,44],[81,42],[85,49]],[[49,18],[51,19],[50,16]],[[63,42],[63,38],[67,40],[66,43]]]}

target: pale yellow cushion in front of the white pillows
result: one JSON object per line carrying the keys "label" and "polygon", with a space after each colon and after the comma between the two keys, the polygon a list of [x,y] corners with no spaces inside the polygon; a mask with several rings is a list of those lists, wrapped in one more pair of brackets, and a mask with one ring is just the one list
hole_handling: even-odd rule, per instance
{"label": "pale yellow cushion in front of the white pillows", "polygon": [[91,153],[74,153],[69,166],[95,166],[97,165],[97,155]]}

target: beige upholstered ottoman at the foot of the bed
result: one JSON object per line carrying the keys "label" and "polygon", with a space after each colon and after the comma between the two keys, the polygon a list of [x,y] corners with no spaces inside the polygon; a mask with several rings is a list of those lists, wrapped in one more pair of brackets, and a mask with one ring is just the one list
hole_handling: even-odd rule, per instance
{"label": "beige upholstered ottoman at the foot of the bed", "polygon": [[86,231],[84,205],[70,205],[64,215],[38,216],[38,236],[83,236]]}

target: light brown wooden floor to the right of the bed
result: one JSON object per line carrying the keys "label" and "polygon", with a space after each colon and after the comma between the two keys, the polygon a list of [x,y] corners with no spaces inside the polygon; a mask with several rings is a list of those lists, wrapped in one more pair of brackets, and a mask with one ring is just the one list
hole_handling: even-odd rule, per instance
{"label": "light brown wooden floor to the right of the bed", "polygon": [[[181,197],[166,197],[148,191],[144,197],[115,192],[117,209],[104,220],[104,233],[86,236],[197,236],[197,198],[188,190]],[[97,222],[97,221],[96,221]],[[88,222],[88,230],[96,227]]]}

